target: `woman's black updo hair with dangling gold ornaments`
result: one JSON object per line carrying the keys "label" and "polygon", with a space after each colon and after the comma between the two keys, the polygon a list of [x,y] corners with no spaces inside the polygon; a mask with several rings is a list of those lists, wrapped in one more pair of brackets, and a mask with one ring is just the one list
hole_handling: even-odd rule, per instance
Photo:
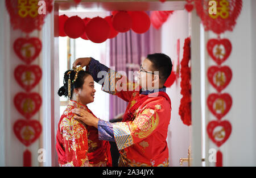
{"label": "woman's black updo hair with dangling gold ornaments", "polygon": [[88,75],[91,75],[92,74],[90,72],[87,72],[87,71],[79,71],[77,73],[77,79],[75,82],[72,82],[74,79],[75,79],[75,75],[76,75],[76,71],[74,70],[68,70],[65,72],[64,74],[64,79],[63,79],[63,86],[61,86],[61,88],[59,89],[58,91],[58,95],[61,97],[61,96],[65,96],[67,97],[68,96],[68,78],[69,78],[69,75],[68,75],[68,72],[71,71],[70,73],[70,80],[71,80],[71,100],[72,100],[72,95],[73,95],[73,90],[76,88],[76,89],[79,89],[79,88],[82,88],[82,85],[84,84],[84,80],[85,78],[88,76]]}

